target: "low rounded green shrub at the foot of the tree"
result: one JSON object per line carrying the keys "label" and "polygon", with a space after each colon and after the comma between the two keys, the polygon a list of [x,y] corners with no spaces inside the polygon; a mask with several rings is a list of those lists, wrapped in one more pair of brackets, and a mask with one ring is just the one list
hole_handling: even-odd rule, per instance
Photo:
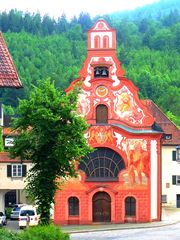
{"label": "low rounded green shrub at the foot of the tree", "polygon": [[69,235],[63,233],[54,225],[29,227],[19,233],[21,240],[69,240]]}

